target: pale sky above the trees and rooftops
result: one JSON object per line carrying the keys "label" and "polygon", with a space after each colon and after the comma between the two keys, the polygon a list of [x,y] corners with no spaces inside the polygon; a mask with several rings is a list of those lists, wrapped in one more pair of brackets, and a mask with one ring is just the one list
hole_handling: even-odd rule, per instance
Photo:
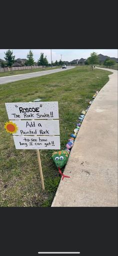
{"label": "pale sky above the trees and rooftops", "polygon": [[[4,60],[4,52],[8,49],[0,49],[0,59]],[[107,55],[108,57],[117,58],[117,49],[11,49],[15,59],[26,59],[26,55],[31,50],[33,52],[34,61],[40,57],[40,53],[44,53],[44,56],[47,57],[49,63],[55,60],[59,61],[62,58],[62,61],[72,61],[74,59],[88,58],[91,52],[96,52],[97,54],[101,53],[102,55]],[[62,56],[60,56],[62,55]]]}

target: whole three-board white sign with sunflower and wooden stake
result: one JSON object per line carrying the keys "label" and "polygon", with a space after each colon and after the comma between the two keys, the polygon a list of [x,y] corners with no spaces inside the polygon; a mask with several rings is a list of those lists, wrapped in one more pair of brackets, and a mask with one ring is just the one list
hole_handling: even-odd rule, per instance
{"label": "whole three-board white sign with sunflower and wooden stake", "polygon": [[16,149],[36,150],[44,190],[39,150],[60,149],[58,102],[5,103],[5,107],[9,122],[4,128],[13,135]]}

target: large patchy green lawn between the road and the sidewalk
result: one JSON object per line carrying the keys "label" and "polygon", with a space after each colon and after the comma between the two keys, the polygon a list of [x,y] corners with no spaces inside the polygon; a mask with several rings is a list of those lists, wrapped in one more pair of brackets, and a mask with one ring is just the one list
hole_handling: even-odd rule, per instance
{"label": "large patchy green lawn between the road and the sidewalk", "polygon": [[[52,150],[40,150],[45,191],[41,189],[36,150],[15,150],[7,134],[5,102],[58,101],[60,149],[64,149],[81,110],[111,72],[79,66],[65,72],[0,85],[0,206],[50,206],[60,175],[51,160]],[[98,77],[98,78],[97,78]],[[64,182],[64,181],[63,181]]]}

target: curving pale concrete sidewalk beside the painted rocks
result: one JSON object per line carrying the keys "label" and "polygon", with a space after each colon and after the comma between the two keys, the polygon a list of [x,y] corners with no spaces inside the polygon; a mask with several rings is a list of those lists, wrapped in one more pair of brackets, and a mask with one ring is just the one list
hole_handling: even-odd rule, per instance
{"label": "curving pale concrete sidewalk beside the painted rocks", "polygon": [[113,74],[84,117],[51,207],[117,206],[117,70],[104,70]]}

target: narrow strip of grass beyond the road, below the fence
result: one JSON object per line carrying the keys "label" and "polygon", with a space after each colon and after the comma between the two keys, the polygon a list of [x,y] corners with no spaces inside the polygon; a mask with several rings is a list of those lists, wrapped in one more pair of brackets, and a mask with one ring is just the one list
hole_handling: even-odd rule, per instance
{"label": "narrow strip of grass beyond the road, below the fence", "polygon": [[60,68],[60,67],[61,66],[53,67],[53,68],[35,68],[35,69],[14,70],[14,71],[9,71],[9,72],[0,72],[0,77],[39,72],[39,71],[44,71],[44,70],[49,70],[49,69],[56,69],[56,68]]}

